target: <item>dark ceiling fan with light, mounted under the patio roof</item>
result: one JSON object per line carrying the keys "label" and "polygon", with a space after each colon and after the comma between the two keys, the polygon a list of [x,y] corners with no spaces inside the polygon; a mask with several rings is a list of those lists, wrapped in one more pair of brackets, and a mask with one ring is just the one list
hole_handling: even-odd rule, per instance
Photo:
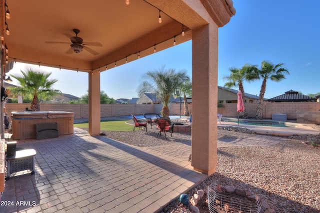
{"label": "dark ceiling fan with light, mounted under the patio roof", "polygon": [[[91,54],[97,55],[98,52],[94,51],[93,49],[89,48],[88,45],[90,46],[102,46],[101,43],[99,42],[84,42],[83,43],[83,39],[81,37],[78,37],[78,33],[80,32],[79,29],[73,29],[73,32],[75,33],[75,36],[71,36],[70,40],[71,40],[71,49],[69,49],[68,51],[66,51],[66,53],[79,53],[82,51],[82,49],[84,48],[85,50],[87,50],[88,52],[90,52]],[[60,41],[45,41],[45,43],[69,43],[69,42],[60,42]]]}

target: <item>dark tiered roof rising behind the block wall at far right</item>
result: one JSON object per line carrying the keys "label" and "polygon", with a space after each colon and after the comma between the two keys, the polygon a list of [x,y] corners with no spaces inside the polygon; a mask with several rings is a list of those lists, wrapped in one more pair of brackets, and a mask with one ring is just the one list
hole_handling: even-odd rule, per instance
{"label": "dark tiered roof rising behind the block wall at far right", "polygon": [[299,94],[299,92],[291,89],[284,94],[268,99],[268,102],[315,102],[316,99],[316,97]]}

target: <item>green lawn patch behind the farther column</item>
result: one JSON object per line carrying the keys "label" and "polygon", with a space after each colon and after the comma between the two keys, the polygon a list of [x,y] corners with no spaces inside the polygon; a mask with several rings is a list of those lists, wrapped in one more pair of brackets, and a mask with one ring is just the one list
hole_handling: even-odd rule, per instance
{"label": "green lawn patch behind the farther column", "polygon": [[[126,124],[130,120],[101,120],[100,129],[108,131],[132,131],[133,125]],[[88,122],[74,123],[74,127],[88,128]]]}

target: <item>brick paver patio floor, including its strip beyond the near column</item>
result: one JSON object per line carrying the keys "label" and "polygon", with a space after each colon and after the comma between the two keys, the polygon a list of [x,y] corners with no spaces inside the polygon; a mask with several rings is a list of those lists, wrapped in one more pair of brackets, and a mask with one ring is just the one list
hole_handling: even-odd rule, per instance
{"label": "brick paver patio floor, including its strip beyond the near column", "polygon": [[[206,177],[192,170],[188,142],[139,148],[76,133],[19,141],[37,151],[36,172],[5,181],[0,212],[156,212]],[[253,135],[218,147],[284,139]]]}

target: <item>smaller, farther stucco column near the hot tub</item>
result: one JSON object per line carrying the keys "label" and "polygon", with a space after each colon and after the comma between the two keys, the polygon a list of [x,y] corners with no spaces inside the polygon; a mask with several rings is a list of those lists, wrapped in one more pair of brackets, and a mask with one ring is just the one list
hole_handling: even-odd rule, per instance
{"label": "smaller, farther stucco column near the hot tub", "polygon": [[89,134],[100,133],[100,73],[89,72]]}

